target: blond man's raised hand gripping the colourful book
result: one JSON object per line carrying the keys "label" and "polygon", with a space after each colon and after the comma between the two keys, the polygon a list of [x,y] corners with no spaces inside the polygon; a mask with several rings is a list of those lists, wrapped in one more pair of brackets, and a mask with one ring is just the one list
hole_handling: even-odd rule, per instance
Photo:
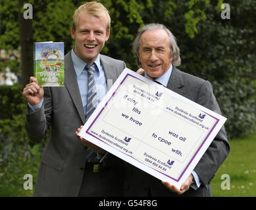
{"label": "blond man's raised hand gripping the colourful book", "polygon": [[24,87],[22,95],[32,106],[36,106],[43,99],[43,94],[43,87],[38,86],[38,80],[30,77],[30,83]]}

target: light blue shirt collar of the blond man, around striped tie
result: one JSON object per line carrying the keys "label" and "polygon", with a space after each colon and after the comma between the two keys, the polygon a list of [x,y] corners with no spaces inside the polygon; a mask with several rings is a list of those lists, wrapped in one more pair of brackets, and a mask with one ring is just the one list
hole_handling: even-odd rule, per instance
{"label": "light blue shirt collar of the blond man, around striped tie", "polygon": [[[76,72],[76,76],[79,77],[80,74],[83,72],[84,67],[86,66],[86,62],[84,62],[84,60],[82,60],[81,58],[79,58],[76,53],[74,53],[74,48],[71,51],[71,58],[74,64],[74,70]],[[100,61],[100,54],[97,56],[96,60],[94,61],[94,63],[96,64],[97,68],[95,69],[95,72],[99,72],[100,74],[100,66],[101,66],[101,61]]]}

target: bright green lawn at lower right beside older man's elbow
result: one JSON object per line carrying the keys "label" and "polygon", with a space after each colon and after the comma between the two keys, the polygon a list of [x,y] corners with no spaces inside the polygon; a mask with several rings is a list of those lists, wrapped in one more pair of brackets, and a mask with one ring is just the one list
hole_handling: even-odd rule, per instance
{"label": "bright green lawn at lower right beside older man's elbow", "polygon": [[[244,138],[232,139],[230,146],[228,158],[222,163],[211,182],[213,196],[255,197],[256,133]],[[230,178],[229,189],[228,176]]]}

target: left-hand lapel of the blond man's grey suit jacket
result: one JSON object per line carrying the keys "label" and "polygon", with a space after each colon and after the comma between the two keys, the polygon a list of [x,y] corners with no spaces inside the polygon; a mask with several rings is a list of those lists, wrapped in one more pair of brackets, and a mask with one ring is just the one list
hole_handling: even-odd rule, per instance
{"label": "left-hand lapel of the blond man's grey suit jacket", "polygon": [[78,87],[78,82],[76,79],[76,72],[74,71],[74,66],[71,58],[71,51],[65,56],[65,86],[68,90],[70,97],[74,102],[74,106],[78,111],[78,114],[83,122],[86,123],[86,117],[84,116],[84,108],[80,96],[80,90]]}

